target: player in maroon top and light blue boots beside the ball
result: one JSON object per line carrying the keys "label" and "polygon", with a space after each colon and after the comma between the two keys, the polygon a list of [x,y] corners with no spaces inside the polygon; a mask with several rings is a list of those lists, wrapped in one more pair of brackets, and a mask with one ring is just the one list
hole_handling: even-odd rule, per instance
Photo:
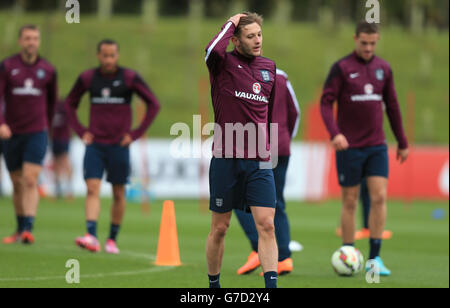
{"label": "player in maroon top and light blue boots beside the ball", "polygon": [[[387,215],[388,148],[383,131],[383,102],[398,141],[397,160],[408,157],[408,142],[390,65],[375,55],[379,40],[376,24],[361,22],[356,29],[355,51],[335,63],[325,83],[321,111],[336,149],[338,180],[342,187],[343,244],[354,246],[355,212],[361,181],[367,179],[371,199],[370,254],[379,274],[391,271],[380,258]],[[338,102],[337,123],[333,103]],[[370,270],[366,266],[366,270]]]}

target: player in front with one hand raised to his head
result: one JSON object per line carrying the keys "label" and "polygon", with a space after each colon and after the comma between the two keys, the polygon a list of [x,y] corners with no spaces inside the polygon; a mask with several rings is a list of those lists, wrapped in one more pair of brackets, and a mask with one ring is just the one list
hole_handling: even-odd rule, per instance
{"label": "player in front with one hand raised to his head", "polygon": [[[214,131],[210,167],[212,222],[206,244],[210,288],[220,288],[225,234],[233,209],[251,210],[259,235],[258,252],[266,287],[277,286],[273,171],[261,168],[260,162],[265,161],[261,153],[257,157],[250,155],[257,152],[256,144],[249,140],[251,137],[244,138],[243,149],[235,145],[234,136],[233,144],[228,144],[226,138],[226,125],[264,124],[267,129],[259,131],[259,137],[264,136],[262,146],[270,150],[268,128],[274,104],[276,66],[261,57],[261,26],[262,17],[255,13],[235,15],[206,47],[215,122],[222,131],[221,135],[217,127]],[[230,39],[235,49],[227,53]]]}

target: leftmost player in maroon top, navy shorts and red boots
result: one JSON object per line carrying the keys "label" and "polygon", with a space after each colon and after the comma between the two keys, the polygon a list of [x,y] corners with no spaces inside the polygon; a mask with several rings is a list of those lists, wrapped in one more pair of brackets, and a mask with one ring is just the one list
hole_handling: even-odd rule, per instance
{"label": "leftmost player in maroon top, navy shorts and red boots", "polygon": [[25,25],[19,31],[19,54],[0,63],[0,138],[13,183],[17,231],[4,244],[34,243],[32,235],[39,204],[38,177],[48,144],[48,130],[58,100],[55,68],[39,56],[40,31]]}

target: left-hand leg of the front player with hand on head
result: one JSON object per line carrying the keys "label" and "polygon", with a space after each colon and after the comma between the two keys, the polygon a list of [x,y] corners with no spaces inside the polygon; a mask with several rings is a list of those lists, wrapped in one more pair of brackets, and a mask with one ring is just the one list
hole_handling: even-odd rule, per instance
{"label": "left-hand leg of the front player with hand on head", "polygon": [[232,212],[212,212],[211,230],[206,241],[206,260],[210,288],[220,288],[220,269],[225,251],[225,235],[230,227]]}

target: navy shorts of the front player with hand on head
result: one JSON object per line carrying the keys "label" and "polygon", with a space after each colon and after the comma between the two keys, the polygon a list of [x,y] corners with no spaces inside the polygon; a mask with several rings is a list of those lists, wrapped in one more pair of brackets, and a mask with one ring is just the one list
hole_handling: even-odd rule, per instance
{"label": "navy shorts of the front player with hand on head", "polygon": [[250,211],[251,206],[276,207],[272,169],[245,159],[213,158],[209,171],[210,210],[228,213],[233,209]]}

